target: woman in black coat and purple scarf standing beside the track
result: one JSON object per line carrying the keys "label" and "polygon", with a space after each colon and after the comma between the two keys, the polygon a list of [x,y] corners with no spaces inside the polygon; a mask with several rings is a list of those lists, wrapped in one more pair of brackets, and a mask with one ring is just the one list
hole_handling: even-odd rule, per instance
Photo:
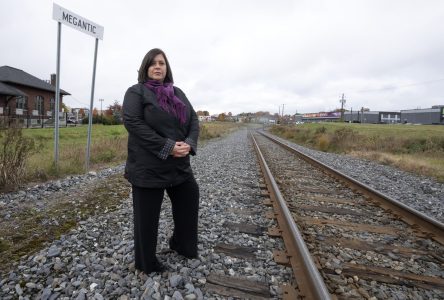
{"label": "woman in black coat and purple scarf standing beside the track", "polygon": [[173,210],[170,248],[187,258],[197,257],[199,209],[199,187],[190,166],[199,122],[185,94],[173,87],[162,50],[145,55],[138,83],[125,94],[123,122],[128,131],[125,177],[132,184],[135,267],[146,274],[162,272],[156,246],[164,191]]}

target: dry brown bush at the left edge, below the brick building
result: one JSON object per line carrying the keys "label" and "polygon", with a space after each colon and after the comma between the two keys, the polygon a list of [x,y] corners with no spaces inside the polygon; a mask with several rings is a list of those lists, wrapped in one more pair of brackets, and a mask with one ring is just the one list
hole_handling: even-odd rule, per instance
{"label": "dry brown bush at the left edge, below the brick building", "polygon": [[26,163],[36,150],[35,142],[24,137],[21,128],[0,131],[0,188],[9,189],[24,182]]}

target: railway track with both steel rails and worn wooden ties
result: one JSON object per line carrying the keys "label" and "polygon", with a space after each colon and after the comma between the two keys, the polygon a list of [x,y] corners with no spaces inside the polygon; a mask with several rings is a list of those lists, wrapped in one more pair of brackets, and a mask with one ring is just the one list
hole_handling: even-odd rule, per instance
{"label": "railway track with both steel rails and worn wooden ties", "polygon": [[251,137],[279,223],[270,234],[287,248],[275,257],[295,274],[288,298],[444,299],[442,223],[271,136]]}

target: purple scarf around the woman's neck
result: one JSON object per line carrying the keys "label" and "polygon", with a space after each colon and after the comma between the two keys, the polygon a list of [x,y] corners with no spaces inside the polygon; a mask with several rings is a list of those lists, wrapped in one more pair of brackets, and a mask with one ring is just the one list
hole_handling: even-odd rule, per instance
{"label": "purple scarf around the woman's neck", "polygon": [[175,116],[181,124],[185,124],[187,107],[174,95],[174,88],[171,82],[161,83],[157,80],[148,80],[144,85],[156,94],[159,106],[163,111]]}

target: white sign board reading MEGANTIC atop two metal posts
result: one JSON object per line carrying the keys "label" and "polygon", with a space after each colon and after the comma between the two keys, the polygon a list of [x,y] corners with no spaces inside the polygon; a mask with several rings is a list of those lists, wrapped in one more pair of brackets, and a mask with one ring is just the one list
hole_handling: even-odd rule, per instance
{"label": "white sign board reading MEGANTIC atop two metal posts", "polygon": [[53,5],[52,18],[62,24],[103,40],[103,26],[85,19],[55,3]]}

